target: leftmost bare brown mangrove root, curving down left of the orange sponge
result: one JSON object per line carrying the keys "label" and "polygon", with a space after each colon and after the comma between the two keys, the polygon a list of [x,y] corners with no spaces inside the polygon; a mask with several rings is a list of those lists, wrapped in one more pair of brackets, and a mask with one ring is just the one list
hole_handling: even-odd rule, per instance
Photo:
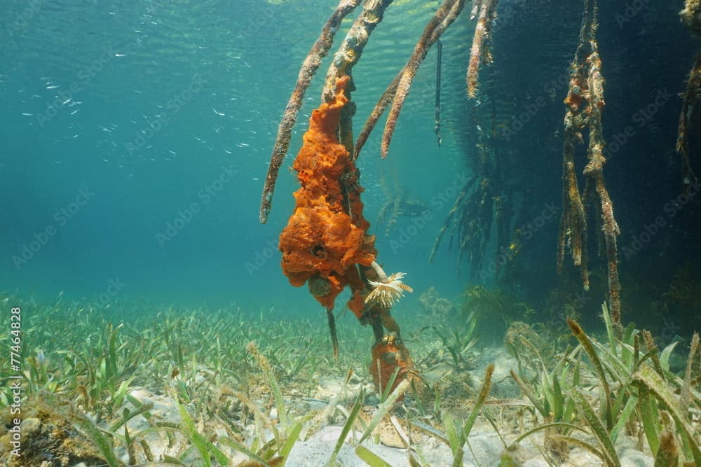
{"label": "leftmost bare brown mangrove root, curving down left of the orange sponge", "polygon": [[311,50],[304,59],[301,69],[299,69],[299,76],[297,76],[297,83],[294,85],[294,90],[290,96],[290,100],[285,106],[285,114],[283,115],[283,120],[280,122],[278,127],[278,135],[275,137],[275,146],[273,146],[273,155],[271,155],[270,165],[268,166],[268,174],[266,175],[265,184],[263,187],[263,196],[261,198],[261,207],[259,213],[259,220],[261,223],[266,223],[268,221],[268,215],[270,214],[272,202],[273,202],[273,191],[275,190],[275,181],[278,179],[278,172],[280,171],[280,165],[283,164],[283,159],[285,159],[285,153],[287,153],[287,148],[290,147],[290,135],[292,134],[292,127],[297,121],[297,113],[299,113],[299,108],[302,104],[302,99],[304,98],[304,93],[309,87],[312,78],[316,74],[321,64],[321,59],[327,55],[329,49],[331,48],[336,31],[339,30],[341,21],[346,18],[348,13],[355,10],[358,6],[360,0],[341,0],[339,6],[336,7],[334,13],[329,16],[326,24],[321,30],[319,39],[316,40]]}

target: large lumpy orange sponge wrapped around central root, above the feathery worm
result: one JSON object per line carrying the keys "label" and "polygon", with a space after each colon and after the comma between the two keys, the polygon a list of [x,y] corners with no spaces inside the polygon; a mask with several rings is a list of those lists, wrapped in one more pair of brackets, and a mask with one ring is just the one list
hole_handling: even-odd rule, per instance
{"label": "large lumpy orange sponge wrapped around central root, above the feathery worm", "polygon": [[376,250],[374,237],[366,234],[358,169],[337,136],[348,79],[339,78],[334,102],[322,104],[309,119],[293,165],[301,188],[294,193],[294,214],[280,233],[280,251],[290,284],[299,287],[313,278],[312,293],[326,309],[349,285],[353,295],[348,307],[360,318],[365,284],[355,265],[369,266]]}

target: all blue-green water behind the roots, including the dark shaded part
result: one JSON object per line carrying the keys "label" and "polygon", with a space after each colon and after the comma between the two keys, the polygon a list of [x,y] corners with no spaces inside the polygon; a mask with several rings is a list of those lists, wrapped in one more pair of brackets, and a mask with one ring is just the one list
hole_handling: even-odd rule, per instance
{"label": "all blue-green water behind the roots, including the dark shaded part", "polygon": [[[644,132],[637,132],[620,153],[625,157],[607,165],[627,232],[638,231],[677,193],[679,165],[669,148],[681,105],[676,93],[683,91],[695,50],[679,25],[681,2],[643,3],[624,22],[616,15],[625,13],[625,5],[601,6],[601,54],[610,83],[608,137],[655,92],[664,89],[675,96]],[[114,292],[110,299],[192,306],[236,302],[318,313],[306,288],[288,284],[276,246],[297,189],[287,167],[311,109],[320,102],[328,60],[307,92],[271,217],[266,225],[257,217],[280,116],[301,61],[335,6],[331,0],[0,1],[1,287],[46,299],[61,291],[92,300]],[[353,71],[356,131],[409,57],[436,6],[435,1],[408,0],[388,9]],[[402,218],[389,236],[383,226],[374,231],[379,261],[388,272],[406,272],[416,290],[400,303],[400,311],[412,313],[418,294],[430,286],[452,298],[470,284],[469,268],[456,272],[456,255],[447,253],[445,244],[428,264],[456,196],[451,187],[470,173],[465,154],[471,149],[464,143],[476,125],[467,123],[470,116],[461,109],[496,102],[502,114],[516,115],[521,99],[547,97],[547,107],[520,134],[522,146],[501,144],[505,153],[522,160],[550,161],[534,162],[532,174],[511,176],[530,180],[524,200],[538,192],[539,203],[560,204],[566,86],[544,92],[543,80],[566,74],[581,2],[503,0],[498,11],[495,64],[482,71],[482,79],[495,83],[489,99],[465,104],[464,71],[474,24],[463,13],[443,38],[442,147],[433,134],[432,50],[402,112],[390,157],[380,160],[376,151],[379,130],[360,156],[371,222],[388,196],[400,190],[431,210],[430,221],[416,230]],[[347,27],[348,21],[336,44]],[[651,141],[665,143],[652,148]],[[657,162],[639,174],[636,158]],[[197,212],[189,215],[185,211],[192,204]],[[629,209],[633,205],[639,209]],[[179,218],[189,220],[171,236],[168,226]],[[685,232],[668,241],[681,244]],[[557,220],[540,230],[538,242],[524,253],[531,278],[540,280],[543,290],[557,280],[556,235]],[[659,251],[655,246],[644,253]],[[688,250],[674,251],[679,256]],[[676,261],[669,258],[659,261]],[[604,298],[592,300],[592,309]]]}

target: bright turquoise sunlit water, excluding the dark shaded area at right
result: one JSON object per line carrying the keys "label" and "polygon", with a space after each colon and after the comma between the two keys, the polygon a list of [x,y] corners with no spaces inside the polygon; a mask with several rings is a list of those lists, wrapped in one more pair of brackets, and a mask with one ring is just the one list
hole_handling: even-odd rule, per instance
{"label": "bright turquoise sunlit water, excluding the dark shaded area at right", "polygon": [[[109,288],[129,300],[315,309],[306,289],[291,288],[279,267],[277,237],[297,188],[286,169],[292,157],[266,225],[258,223],[257,210],[278,118],[331,7],[322,1],[6,6],[6,18],[27,18],[17,20],[2,52],[4,288],[44,298],[60,291],[90,298]],[[367,48],[367,67],[358,67],[359,115],[410,50],[383,51],[393,67],[371,68],[383,44],[414,39],[397,35],[398,19],[388,15]],[[433,81],[429,68],[419,76],[426,84]],[[320,83],[308,92],[292,155]],[[440,193],[440,177],[460,165],[449,147],[437,150],[432,113],[431,102],[416,106],[415,115],[407,112],[390,160],[363,156],[371,221],[386,196],[381,178],[388,190],[401,177],[417,187],[411,195],[426,196]],[[414,118],[425,123],[409,129]],[[433,180],[411,167],[439,157],[446,163],[433,169]],[[459,293],[450,258],[414,267],[418,256],[428,258],[442,215],[396,253],[380,235],[380,258],[388,269],[407,272],[418,289],[440,279],[447,293]]]}

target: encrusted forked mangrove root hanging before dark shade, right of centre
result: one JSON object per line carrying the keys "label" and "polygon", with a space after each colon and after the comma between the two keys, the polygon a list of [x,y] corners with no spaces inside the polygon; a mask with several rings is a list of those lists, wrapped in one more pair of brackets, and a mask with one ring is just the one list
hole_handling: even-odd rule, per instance
{"label": "encrusted forked mangrove root hanging before dark shade, right of centre", "polygon": [[[569,244],[574,265],[580,267],[585,290],[589,288],[587,271],[587,221],[583,198],[597,197],[601,231],[606,246],[608,264],[608,298],[614,328],[620,328],[620,281],[618,278],[618,247],[620,234],[613,216],[613,202],[604,181],[604,136],[601,113],[604,102],[604,77],[597,45],[597,0],[585,0],[580,43],[571,64],[570,84],[564,100],[564,146],[562,151],[562,217],[557,247],[557,269],[562,271],[565,248]],[[589,147],[584,169],[586,184],[580,195],[576,175],[576,146],[583,142],[588,130]]]}

